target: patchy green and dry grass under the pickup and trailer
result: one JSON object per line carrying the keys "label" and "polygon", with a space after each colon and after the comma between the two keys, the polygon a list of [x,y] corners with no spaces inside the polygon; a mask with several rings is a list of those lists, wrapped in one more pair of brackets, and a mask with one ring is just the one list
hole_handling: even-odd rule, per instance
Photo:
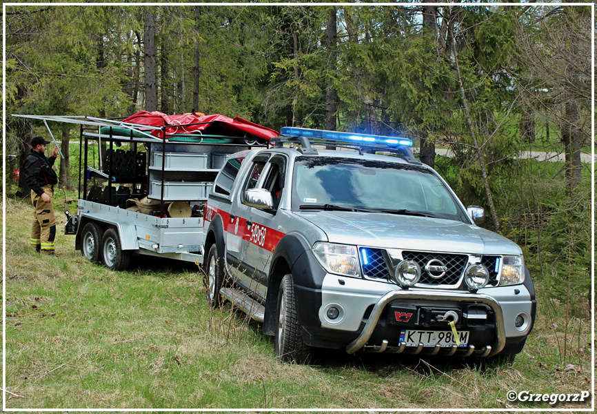
{"label": "patchy green and dry grass under the pickup and trailer", "polygon": [[207,307],[193,264],[143,257],[115,273],[85,261],[61,233],[60,201],[59,259],[28,246],[27,201],[5,206],[6,380],[21,396],[9,409],[551,408],[506,393],[591,388],[588,310],[569,323],[563,357],[565,304],[540,285],[535,329],[512,366],[338,351],[285,364],[259,324],[229,304]]}

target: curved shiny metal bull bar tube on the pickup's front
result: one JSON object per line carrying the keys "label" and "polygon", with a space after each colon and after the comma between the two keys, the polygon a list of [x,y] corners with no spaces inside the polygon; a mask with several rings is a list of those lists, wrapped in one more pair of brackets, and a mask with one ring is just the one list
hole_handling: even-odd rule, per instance
{"label": "curved shiny metal bull bar tube on the pickup's front", "polygon": [[504,315],[502,312],[502,307],[500,304],[488,295],[477,294],[477,293],[457,293],[457,292],[428,292],[424,290],[405,290],[405,289],[396,289],[392,290],[383,297],[381,297],[375,306],[373,307],[373,311],[367,319],[367,323],[363,328],[363,331],[358,335],[353,342],[348,344],[346,347],[346,352],[353,354],[359,349],[363,348],[367,341],[373,334],[373,331],[377,325],[381,312],[389,304],[396,299],[409,299],[409,300],[419,300],[419,299],[427,299],[427,300],[449,300],[450,302],[475,302],[486,304],[489,308],[492,308],[496,318],[496,342],[492,345],[491,351],[488,355],[484,355],[485,357],[492,357],[502,351],[506,344],[506,331],[504,327]]}

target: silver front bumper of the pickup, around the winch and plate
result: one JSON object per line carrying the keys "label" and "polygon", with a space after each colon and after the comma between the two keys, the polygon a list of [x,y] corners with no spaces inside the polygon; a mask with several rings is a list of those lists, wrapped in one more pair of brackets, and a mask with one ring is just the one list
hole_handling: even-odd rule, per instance
{"label": "silver front bumper of the pickup, around the winch and plate", "polygon": [[[312,290],[312,294],[317,295],[316,291]],[[313,315],[314,318],[309,318],[311,322],[314,322],[313,319],[317,319],[318,323],[305,324],[312,344],[334,348],[345,346],[348,353],[355,353],[361,348],[373,352],[393,353],[403,351],[438,353],[440,351],[438,346],[434,348],[429,345],[426,345],[424,349],[423,345],[414,348],[406,346],[405,348],[405,344],[396,340],[396,328],[399,326],[388,326],[387,319],[385,319],[390,304],[409,304],[417,308],[455,307],[461,309],[472,304],[486,306],[491,315],[487,324],[467,328],[476,337],[476,341],[473,343],[476,344],[477,349],[474,345],[458,348],[456,346],[442,347],[442,353],[447,351],[448,355],[452,355],[456,351],[459,355],[472,355],[473,353],[480,357],[496,355],[503,351],[505,346],[508,347],[522,341],[530,332],[532,317],[534,317],[531,295],[522,285],[485,288],[477,293],[432,288],[404,290],[394,284],[327,274],[324,277],[321,290],[318,292],[318,295],[321,295],[319,296],[321,306],[317,315]],[[341,315],[333,320],[326,315],[332,306],[341,309]],[[516,315],[521,313],[526,315],[527,323],[522,328],[516,328],[514,320]],[[423,327],[413,326],[409,329],[413,328],[421,329]],[[447,328],[447,325],[444,325],[444,328]],[[429,328],[427,327],[427,329]],[[442,328],[439,329],[442,330]],[[385,335],[387,336],[384,337]],[[317,338],[323,341],[321,345],[317,344]]]}

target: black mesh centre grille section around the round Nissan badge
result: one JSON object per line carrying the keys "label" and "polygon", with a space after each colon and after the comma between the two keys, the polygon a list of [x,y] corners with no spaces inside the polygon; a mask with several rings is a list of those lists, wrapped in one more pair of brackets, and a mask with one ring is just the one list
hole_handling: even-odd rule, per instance
{"label": "black mesh centre grille section around the round Nissan badge", "polygon": [[[413,260],[419,266],[421,266],[421,280],[418,282],[419,284],[434,286],[456,285],[458,280],[461,278],[469,259],[467,255],[454,255],[450,253],[434,252],[412,252],[406,250],[402,252],[402,257],[405,260]],[[431,277],[427,270],[425,270],[425,266],[427,266],[427,264],[432,260],[438,260],[447,267],[445,275],[439,277],[438,279]]]}

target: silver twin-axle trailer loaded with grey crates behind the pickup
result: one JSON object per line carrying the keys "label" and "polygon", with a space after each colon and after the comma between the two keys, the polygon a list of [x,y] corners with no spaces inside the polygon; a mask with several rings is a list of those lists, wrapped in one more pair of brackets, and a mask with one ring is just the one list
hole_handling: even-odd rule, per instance
{"label": "silver twin-axle trailer loaded with grey crates behind the pickup", "polygon": [[65,212],[65,234],[75,235],[75,249],[83,256],[112,270],[128,268],[133,255],[202,264],[203,209],[220,168],[229,155],[267,147],[267,137],[277,135],[201,132],[200,122],[177,124],[172,133],[171,125],[15,116],[40,119],[46,126],[47,121],[79,124],[77,213]]}

